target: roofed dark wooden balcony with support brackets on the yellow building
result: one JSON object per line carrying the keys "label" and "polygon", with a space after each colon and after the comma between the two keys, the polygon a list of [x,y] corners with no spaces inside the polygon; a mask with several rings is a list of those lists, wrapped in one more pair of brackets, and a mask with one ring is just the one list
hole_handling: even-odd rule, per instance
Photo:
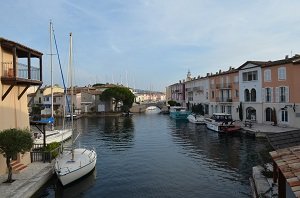
{"label": "roofed dark wooden balcony with support brackets on the yellow building", "polygon": [[[20,99],[30,86],[41,86],[43,84],[43,54],[41,52],[3,38],[0,38],[0,47],[2,53],[6,54],[0,62],[2,70],[1,83],[2,85],[9,85],[9,88],[4,90],[2,100],[5,99],[14,86],[25,87],[18,96],[18,99]],[[38,67],[32,66],[32,61],[37,62]]]}

